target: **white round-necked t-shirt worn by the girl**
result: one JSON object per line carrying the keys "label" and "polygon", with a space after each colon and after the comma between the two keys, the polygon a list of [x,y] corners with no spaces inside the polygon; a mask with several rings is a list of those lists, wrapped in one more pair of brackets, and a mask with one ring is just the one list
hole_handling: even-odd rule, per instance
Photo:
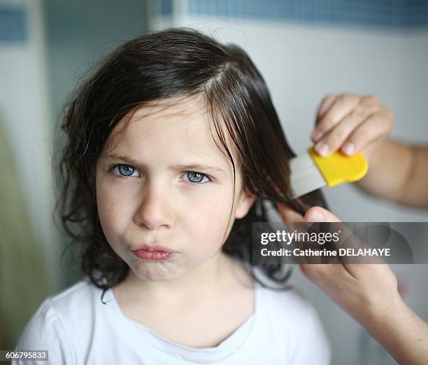
{"label": "white round-necked t-shirt worn by the girl", "polygon": [[87,281],[45,299],[15,350],[48,350],[48,361],[13,365],[293,364],[326,365],[329,340],[313,307],[294,289],[273,291],[256,283],[255,312],[216,347],[172,343],[125,317],[113,291]]}

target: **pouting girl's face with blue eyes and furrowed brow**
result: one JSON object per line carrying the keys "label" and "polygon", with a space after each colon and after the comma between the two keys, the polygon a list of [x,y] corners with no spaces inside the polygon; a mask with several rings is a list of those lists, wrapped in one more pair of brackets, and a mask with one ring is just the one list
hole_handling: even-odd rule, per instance
{"label": "pouting girl's face with blue eyes and furrowed brow", "polygon": [[[233,201],[233,167],[213,141],[203,105],[187,98],[169,107],[141,107],[126,131],[123,120],[116,125],[106,142],[113,149],[105,147],[97,161],[101,226],[141,279],[173,280],[218,259],[234,219],[245,216],[255,200],[243,190],[236,166]],[[117,132],[124,135],[115,139]],[[154,260],[156,255],[136,251],[144,245],[173,254]]]}

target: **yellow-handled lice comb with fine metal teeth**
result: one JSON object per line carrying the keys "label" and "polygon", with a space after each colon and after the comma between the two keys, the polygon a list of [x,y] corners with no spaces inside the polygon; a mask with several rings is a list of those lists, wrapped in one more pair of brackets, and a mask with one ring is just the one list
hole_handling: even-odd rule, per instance
{"label": "yellow-handled lice comb with fine metal teeth", "polygon": [[369,170],[369,165],[362,153],[345,156],[341,152],[335,152],[322,157],[311,147],[308,153],[290,160],[290,170],[293,197],[299,198],[323,186],[332,188],[343,182],[362,179]]}

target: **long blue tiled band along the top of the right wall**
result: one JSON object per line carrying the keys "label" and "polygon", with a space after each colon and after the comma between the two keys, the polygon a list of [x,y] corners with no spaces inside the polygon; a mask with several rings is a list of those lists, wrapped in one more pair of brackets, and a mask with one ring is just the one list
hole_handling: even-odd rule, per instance
{"label": "long blue tiled band along the top of the right wall", "polygon": [[426,0],[188,0],[197,15],[409,29],[428,26]]}

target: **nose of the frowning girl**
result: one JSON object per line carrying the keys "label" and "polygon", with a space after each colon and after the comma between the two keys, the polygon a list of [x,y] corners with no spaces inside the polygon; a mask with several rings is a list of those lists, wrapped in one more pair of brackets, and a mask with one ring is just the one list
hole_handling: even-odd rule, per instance
{"label": "nose of the frowning girl", "polygon": [[144,186],[141,202],[138,205],[134,221],[138,226],[156,230],[162,226],[171,228],[174,225],[174,214],[171,209],[171,196],[167,188],[155,186],[152,181]]}

